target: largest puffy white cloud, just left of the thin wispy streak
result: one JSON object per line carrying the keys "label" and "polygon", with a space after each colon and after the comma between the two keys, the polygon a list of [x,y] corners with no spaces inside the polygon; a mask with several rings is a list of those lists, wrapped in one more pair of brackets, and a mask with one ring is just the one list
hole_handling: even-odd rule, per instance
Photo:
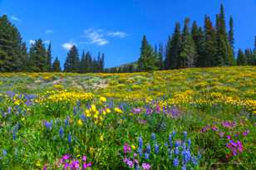
{"label": "largest puffy white cloud, just left of the thin wispy streak", "polygon": [[102,30],[99,29],[86,29],[85,30],[86,38],[89,39],[91,44],[96,44],[98,46],[104,46],[109,43],[106,38],[104,38],[104,34]]}

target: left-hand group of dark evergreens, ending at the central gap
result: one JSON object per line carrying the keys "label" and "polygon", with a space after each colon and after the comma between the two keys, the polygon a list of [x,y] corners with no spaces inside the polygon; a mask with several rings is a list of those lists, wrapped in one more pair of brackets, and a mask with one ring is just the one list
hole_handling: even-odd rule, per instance
{"label": "left-hand group of dark evergreens, ending at the central gap", "polygon": [[[61,63],[56,57],[52,61],[52,45],[46,47],[42,39],[31,43],[27,52],[26,42],[7,15],[0,17],[0,71],[31,71],[31,72],[59,72]],[[97,59],[87,51],[82,52],[81,59],[76,46],[72,46],[67,53],[64,64],[65,72],[103,72],[104,54],[99,52]]]}

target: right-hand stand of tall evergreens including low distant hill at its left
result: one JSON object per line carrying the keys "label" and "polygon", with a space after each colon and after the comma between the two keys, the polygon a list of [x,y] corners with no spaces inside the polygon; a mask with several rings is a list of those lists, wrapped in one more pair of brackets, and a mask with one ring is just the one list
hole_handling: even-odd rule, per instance
{"label": "right-hand stand of tall evergreens including low distant hill at its left", "polygon": [[185,18],[182,30],[180,22],[176,22],[175,31],[168,37],[165,46],[160,43],[155,48],[146,40],[146,36],[143,36],[140,58],[136,64],[113,67],[107,71],[134,72],[236,65],[256,65],[256,36],[254,50],[239,49],[235,57],[234,21],[232,17],[229,18],[229,31],[227,31],[224,6],[221,5],[215,24],[205,15],[204,27],[199,27],[195,21],[190,27],[190,19]]}

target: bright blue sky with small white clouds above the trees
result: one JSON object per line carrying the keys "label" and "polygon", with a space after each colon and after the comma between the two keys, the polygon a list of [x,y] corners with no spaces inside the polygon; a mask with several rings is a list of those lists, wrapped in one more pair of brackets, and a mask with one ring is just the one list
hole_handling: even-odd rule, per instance
{"label": "bright blue sky with small white clouds above the trees", "polygon": [[201,26],[204,14],[214,21],[221,2],[226,18],[234,17],[236,48],[253,47],[256,0],[0,0],[0,15],[7,14],[28,46],[38,38],[51,41],[62,64],[76,44],[93,56],[104,52],[110,67],[137,60],[144,34],[154,45],[185,17]]}

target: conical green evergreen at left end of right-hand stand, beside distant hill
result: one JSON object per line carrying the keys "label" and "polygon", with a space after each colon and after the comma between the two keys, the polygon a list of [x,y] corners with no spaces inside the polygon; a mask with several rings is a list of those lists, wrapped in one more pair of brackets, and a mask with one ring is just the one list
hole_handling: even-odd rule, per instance
{"label": "conical green evergreen at left end of right-hand stand, beside distant hill", "polygon": [[141,47],[140,47],[140,58],[138,61],[138,69],[140,71],[158,70],[158,59],[155,57],[152,46],[143,36]]}

